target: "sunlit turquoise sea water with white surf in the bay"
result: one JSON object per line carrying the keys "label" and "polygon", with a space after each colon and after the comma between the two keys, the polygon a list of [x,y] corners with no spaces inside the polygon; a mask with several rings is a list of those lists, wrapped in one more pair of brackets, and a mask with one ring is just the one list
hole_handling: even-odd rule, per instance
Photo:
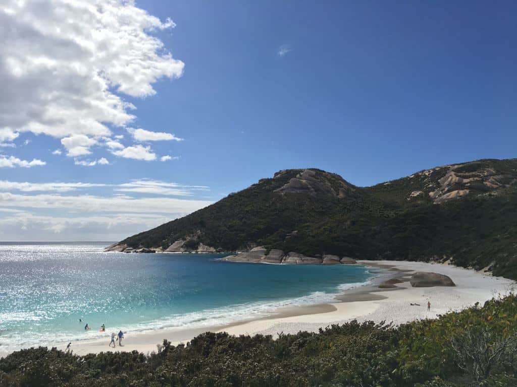
{"label": "sunlit turquoise sea water with white surf in the bay", "polygon": [[227,324],[328,302],[372,277],[360,266],[102,252],[107,245],[0,243],[0,351],[95,338],[102,324],[129,334]]}

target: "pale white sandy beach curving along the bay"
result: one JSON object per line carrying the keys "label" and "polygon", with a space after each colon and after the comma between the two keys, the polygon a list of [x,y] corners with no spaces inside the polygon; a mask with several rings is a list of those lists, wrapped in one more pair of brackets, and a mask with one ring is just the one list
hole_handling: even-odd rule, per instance
{"label": "pale white sandy beach curving along the bay", "polygon": [[[98,353],[102,351],[132,351],[148,353],[157,350],[157,344],[166,338],[174,345],[186,343],[192,337],[205,331],[225,331],[230,334],[270,334],[317,331],[331,324],[346,321],[373,320],[394,324],[435,318],[439,314],[458,311],[483,303],[492,297],[508,294],[516,283],[501,277],[492,277],[474,270],[449,265],[405,261],[358,261],[359,264],[376,270],[379,277],[371,284],[348,289],[337,297],[336,302],[279,310],[277,314],[255,320],[240,321],[227,326],[205,327],[185,330],[159,330],[148,333],[127,334],[123,346],[109,347],[109,334],[103,341],[81,341],[72,343],[74,353]],[[449,276],[455,287],[413,288],[408,280],[415,271],[434,271]],[[404,281],[396,288],[381,289],[378,284],[387,278],[396,277]],[[427,302],[431,311],[427,311]],[[411,304],[420,304],[411,305]],[[58,346],[64,349],[64,346]]]}

